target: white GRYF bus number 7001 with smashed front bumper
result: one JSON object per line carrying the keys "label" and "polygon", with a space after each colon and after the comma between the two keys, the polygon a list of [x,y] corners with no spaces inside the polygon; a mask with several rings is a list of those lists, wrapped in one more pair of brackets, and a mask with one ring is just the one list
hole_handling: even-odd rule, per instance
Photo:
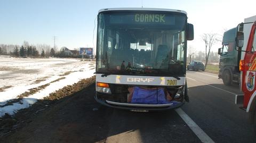
{"label": "white GRYF bus number 7001 with smashed front bumper", "polygon": [[187,40],[194,39],[194,27],[187,19],[181,10],[100,10],[95,100],[137,112],[188,102]]}

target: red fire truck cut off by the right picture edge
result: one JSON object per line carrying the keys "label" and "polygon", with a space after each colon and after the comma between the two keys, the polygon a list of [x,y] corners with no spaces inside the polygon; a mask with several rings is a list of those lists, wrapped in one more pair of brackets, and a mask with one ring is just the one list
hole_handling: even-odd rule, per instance
{"label": "red fire truck cut off by the right picture edge", "polygon": [[[251,26],[249,37],[246,39],[243,33],[245,26]],[[253,123],[256,131],[256,21],[241,23],[237,28],[237,47],[238,51],[244,53],[244,58],[239,62],[239,70],[241,71],[241,89],[244,95],[236,95],[235,103],[243,104],[243,109],[249,113],[249,119]],[[247,40],[245,50],[239,48],[243,47],[244,40]],[[256,132],[255,132],[256,133]]]}

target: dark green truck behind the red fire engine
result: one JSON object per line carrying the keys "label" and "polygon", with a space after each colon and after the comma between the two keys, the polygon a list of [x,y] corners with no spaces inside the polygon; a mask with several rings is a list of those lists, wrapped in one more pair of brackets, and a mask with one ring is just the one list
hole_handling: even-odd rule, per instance
{"label": "dark green truck behind the red fire engine", "polygon": [[[244,23],[253,22],[256,20],[256,15],[244,19]],[[251,24],[246,24],[243,27],[244,32],[244,46],[241,47],[242,50],[246,49],[247,40],[249,38]],[[232,83],[240,83],[240,71],[239,71],[239,61],[243,59],[244,53],[237,51],[236,48],[236,32],[237,27],[232,28],[224,32],[222,39],[222,47],[218,49],[218,54],[220,55],[219,61],[219,79],[222,79],[224,85],[230,86]]]}

